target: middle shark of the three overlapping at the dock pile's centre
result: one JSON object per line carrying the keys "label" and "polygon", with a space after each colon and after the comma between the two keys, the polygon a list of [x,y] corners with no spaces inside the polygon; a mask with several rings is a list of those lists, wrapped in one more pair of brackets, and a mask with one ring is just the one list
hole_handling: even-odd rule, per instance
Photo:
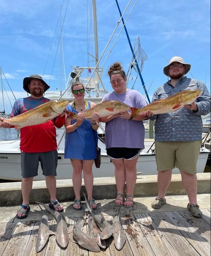
{"label": "middle shark of the three overlapping at the dock pile's centre", "polygon": [[100,231],[97,227],[97,224],[94,220],[94,217],[89,213],[88,214],[88,235],[94,239],[97,245],[103,249],[106,248],[105,240],[101,240]]}

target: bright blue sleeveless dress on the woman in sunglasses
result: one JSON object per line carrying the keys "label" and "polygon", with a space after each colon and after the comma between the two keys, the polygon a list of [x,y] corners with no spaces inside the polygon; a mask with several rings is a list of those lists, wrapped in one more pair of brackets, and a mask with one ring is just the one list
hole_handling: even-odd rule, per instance
{"label": "bright blue sleeveless dress on the woman in sunglasses", "polygon": [[[87,104],[86,110],[90,109],[91,101]],[[70,104],[67,106],[67,110],[78,113]],[[71,120],[71,124],[76,120]],[[84,119],[84,122],[80,127],[72,133],[65,134],[65,151],[64,158],[80,159],[80,160],[92,160],[97,157],[96,144],[97,132],[92,129],[90,119]]]}

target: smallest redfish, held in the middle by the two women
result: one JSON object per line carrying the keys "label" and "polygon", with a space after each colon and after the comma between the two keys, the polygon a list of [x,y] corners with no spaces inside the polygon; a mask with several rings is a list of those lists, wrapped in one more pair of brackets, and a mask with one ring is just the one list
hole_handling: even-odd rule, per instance
{"label": "smallest redfish, held in the middle by the two women", "polygon": [[[92,113],[97,112],[99,114],[99,117],[104,116],[112,116],[115,114],[118,114],[121,111],[127,111],[130,109],[130,106],[118,101],[118,100],[105,100],[96,106],[94,108],[91,108],[89,110],[84,111],[85,118],[91,119]],[[77,114],[71,111],[67,111],[67,116],[71,119],[77,119]]]}

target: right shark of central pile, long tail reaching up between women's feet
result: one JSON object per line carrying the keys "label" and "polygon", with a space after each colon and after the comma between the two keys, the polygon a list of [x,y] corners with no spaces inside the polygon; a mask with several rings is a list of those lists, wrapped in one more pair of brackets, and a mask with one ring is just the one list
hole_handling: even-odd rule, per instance
{"label": "right shark of central pile, long tail reaching up between women's feet", "polygon": [[99,229],[101,231],[100,238],[102,240],[110,238],[113,234],[112,225],[110,225],[109,222],[104,219],[104,217],[102,217],[100,215],[97,215],[92,211],[92,209],[89,206],[89,203],[87,201],[87,198],[86,198],[85,194],[84,194],[84,198],[85,198],[85,201],[86,201],[87,208],[90,211],[90,214],[93,216],[94,220],[97,223],[97,226],[99,227]]}

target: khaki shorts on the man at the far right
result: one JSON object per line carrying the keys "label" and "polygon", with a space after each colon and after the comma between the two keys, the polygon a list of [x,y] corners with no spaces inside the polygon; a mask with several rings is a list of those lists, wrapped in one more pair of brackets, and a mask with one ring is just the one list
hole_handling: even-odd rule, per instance
{"label": "khaki shorts on the man at the far right", "polygon": [[191,142],[159,142],[155,141],[155,158],[157,171],[177,167],[188,174],[196,174],[201,140]]}

